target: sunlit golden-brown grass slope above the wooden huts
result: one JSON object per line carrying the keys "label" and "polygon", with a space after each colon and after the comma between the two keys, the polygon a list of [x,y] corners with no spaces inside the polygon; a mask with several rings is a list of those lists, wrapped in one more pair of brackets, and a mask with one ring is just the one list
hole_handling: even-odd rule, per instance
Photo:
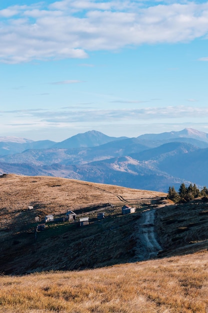
{"label": "sunlit golden-brown grass slope above the wooden huts", "polygon": [[75,179],[15,174],[0,176],[0,190],[0,214],[27,209],[28,205],[32,205],[36,214],[41,216],[95,203],[123,205],[166,196],[163,192]]}

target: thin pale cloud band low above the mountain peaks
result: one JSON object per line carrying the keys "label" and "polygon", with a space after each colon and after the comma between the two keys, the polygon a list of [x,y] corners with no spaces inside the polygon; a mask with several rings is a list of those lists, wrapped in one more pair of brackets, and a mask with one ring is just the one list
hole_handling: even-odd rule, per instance
{"label": "thin pale cloud band low above the mountain peaks", "polygon": [[164,106],[164,107],[143,107],[143,108],[125,108],[125,109],[96,109],[83,108],[79,106],[64,107],[60,110],[47,109],[26,109],[3,111],[4,114],[16,114],[18,116],[30,116],[39,122],[89,122],[89,121],[132,121],[132,120],[162,120],[178,118],[207,118],[208,108],[195,106]]}

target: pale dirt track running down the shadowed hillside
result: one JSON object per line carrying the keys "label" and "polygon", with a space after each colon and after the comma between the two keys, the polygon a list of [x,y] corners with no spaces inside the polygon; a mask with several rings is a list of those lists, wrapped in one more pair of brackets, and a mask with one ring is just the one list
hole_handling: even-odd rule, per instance
{"label": "pale dirt track running down the shadowed hillside", "polygon": [[142,261],[157,255],[162,247],[155,237],[154,231],[155,209],[143,211],[135,231],[137,241],[134,261]]}

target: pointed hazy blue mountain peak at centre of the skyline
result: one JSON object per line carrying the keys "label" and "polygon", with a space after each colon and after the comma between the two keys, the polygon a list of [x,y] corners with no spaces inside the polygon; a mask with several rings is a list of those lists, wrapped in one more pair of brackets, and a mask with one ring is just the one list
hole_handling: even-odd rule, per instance
{"label": "pointed hazy blue mountain peak at centre of the skyline", "polygon": [[113,140],[123,139],[125,137],[110,137],[100,131],[90,130],[84,133],[78,133],[68,139],[58,142],[53,145],[54,148],[78,148],[78,147],[92,147],[101,145]]}

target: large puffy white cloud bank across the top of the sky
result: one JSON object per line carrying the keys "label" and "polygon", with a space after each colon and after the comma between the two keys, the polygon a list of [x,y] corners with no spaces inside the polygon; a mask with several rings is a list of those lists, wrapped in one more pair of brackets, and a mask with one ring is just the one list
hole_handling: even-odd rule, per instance
{"label": "large puffy white cloud bank across the top of the sky", "polygon": [[208,2],[172,2],[63,0],[48,7],[43,2],[9,6],[0,10],[0,61],[85,58],[91,50],[205,37]]}

